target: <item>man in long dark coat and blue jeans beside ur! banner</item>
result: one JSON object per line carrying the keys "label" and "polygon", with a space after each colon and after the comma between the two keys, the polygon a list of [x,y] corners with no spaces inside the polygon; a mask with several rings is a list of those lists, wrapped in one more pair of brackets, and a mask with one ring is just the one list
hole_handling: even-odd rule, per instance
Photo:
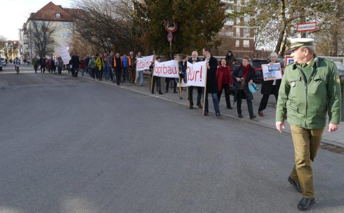
{"label": "man in long dark coat and blue jeans beside ur! banner", "polygon": [[217,59],[211,55],[210,47],[204,47],[202,50],[202,55],[204,56],[203,61],[206,62],[207,72],[206,72],[206,88],[204,98],[204,116],[208,116],[208,94],[211,94],[214,104],[214,110],[216,113],[216,118],[221,116],[219,99],[217,98]]}

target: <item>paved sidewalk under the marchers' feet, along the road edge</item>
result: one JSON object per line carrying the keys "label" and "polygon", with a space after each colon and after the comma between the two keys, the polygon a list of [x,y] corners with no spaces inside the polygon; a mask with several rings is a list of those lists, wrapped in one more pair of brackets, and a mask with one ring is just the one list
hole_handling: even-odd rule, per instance
{"label": "paved sidewalk under the marchers' feet, along the road edge", "polygon": [[[177,104],[183,105],[185,107],[189,106],[189,102],[187,101],[187,94],[186,94],[185,90],[182,91],[182,98],[183,99],[179,98],[179,93],[174,94],[172,88],[169,89],[169,93],[165,93],[166,87],[165,87],[165,80],[164,79],[161,79],[161,83],[162,83],[161,92],[164,93],[164,95],[158,95],[158,92],[156,92],[156,89],[154,90],[154,94],[151,94],[149,92],[149,87],[150,87],[149,76],[144,76],[144,81],[143,81],[142,87],[141,86],[135,86],[135,85],[129,84],[127,82],[121,83],[119,86],[117,86],[115,83],[113,83],[111,81],[108,81],[108,80],[99,81],[98,79],[93,79],[93,78],[89,77],[89,75],[87,75],[87,74],[85,74],[84,76],[80,75],[79,77],[83,78],[83,79],[90,80],[90,81],[94,81],[97,83],[114,86],[114,87],[117,87],[120,89],[129,90],[129,91],[139,93],[142,95],[147,95],[147,96],[159,98],[159,99],[162,99],[165,101],[177,103]],[[257,85],[259,88],[261,88],[260,83],[258,83]],[[200,116],[202,116],[201,109],[198,109],[198,107],[196,106],[197,91],[196,92],[194,91],[194,93],[195,93],[195,95],[194,95],[194,103],[195,103],[194,107],[196,107],[196,108],[194,108],[193,110],[200,110]],[[270,95],[268,105],[267,105],[266,109],[263,111],[264,117],[258,116],[258,107],[259,107],[261,97],[262,97],[262,95],[260,94],[260,91],[258,91],[256,94],[254,94],[254,100],[252,100],[252,102],[253,102],[253,110],[254,110],[254,113],[257,116],[257,118],[255,118],[253,120],[249,119],[250,117],[249,117],[248,110],[247,110],[246,100],[243,100],[243,103],[241,106],[242,115],[244,116],[244,118],[238,118],[238,114],[236,111],[236,104],[233,105],[233,96],[230,96],[230,100],[231,100],[230,102],[231,102],[231,106],[233,109],[231,109],[231,110],[227,109],[224,92],[223,92],[223,95],[221,96],[221,100],[220,100],[220,112],[225,117],[249,122],[249,123],[256,124],[256,125],[259,125],[259,126],[262,126],[265,128],[270,128],[273,131],[277,131],[276,127],[275,127],[275,115],[276,115],[275,96]],[[210,112],[209,116],[215,118],[214,107],[213,107],[210,95],[209,95],[209,112]],[[289,126],[289,124],[287,124],[287,122],[286,122],[286,129],[284,129],[284,132],[287,132],[290,134],[290,126]],[[344,147],[344,122],[341,122],[339,130],[336,131],[335,133],[329,133],[328,132],[328,125],[327,125],[325,127],[325,130],[324,130],[322,142],[328,143],[331,145],[338,145],[338,146]]]}

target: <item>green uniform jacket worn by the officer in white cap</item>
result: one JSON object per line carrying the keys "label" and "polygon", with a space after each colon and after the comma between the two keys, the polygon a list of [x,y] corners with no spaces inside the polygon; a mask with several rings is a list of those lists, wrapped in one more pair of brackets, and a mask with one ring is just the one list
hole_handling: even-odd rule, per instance
{"label": "green uniform jacket worn by the officer in white cap", "polygon": [[342,94],[337,66],[314,55],[313,71],[307,84],[296,63],[286,67],[279,90],[276,121],[284,121],[306,129],[320,129],[329,121],[339,124]]}

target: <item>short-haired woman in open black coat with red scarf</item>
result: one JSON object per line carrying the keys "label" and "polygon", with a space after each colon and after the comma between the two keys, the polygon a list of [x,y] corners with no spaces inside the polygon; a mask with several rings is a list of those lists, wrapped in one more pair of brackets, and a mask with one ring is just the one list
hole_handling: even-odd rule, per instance
{"label": "short-haired woman in open black coat with red scarf", "polygon": [[234,81],[234,102],[236,100],[236,108],[238,111],[238,117],[244,118],[241,114],[241,100],[246,96],[247,108],[249,110],[250,119],[257,118],[253,114],[253,94],[250,92],[249,84],[252,84],[255,79],[255,71],[249,64],[249,58],[243,57],[242,64],[238,69],[233,71],[232,78]]}

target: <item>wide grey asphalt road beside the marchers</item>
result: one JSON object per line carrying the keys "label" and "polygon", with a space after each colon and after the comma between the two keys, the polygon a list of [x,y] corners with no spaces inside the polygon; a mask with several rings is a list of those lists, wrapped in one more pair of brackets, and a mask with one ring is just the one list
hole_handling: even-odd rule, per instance
{"label": "wide grey asphalt road beside the marchers", "polygon": [[[289,135],[21,71],[0,71],[0,213],[298,212]],[[343,213],[343,165],[319,150],[312,212]]]}

